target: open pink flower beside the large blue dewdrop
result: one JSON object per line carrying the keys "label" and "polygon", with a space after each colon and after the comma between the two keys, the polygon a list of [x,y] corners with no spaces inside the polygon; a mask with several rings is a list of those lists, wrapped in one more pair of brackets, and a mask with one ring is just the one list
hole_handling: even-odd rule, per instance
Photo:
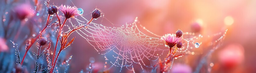
{"label": "open pink flower beside the large blue dewdrop", "polygon": [[75,16],[80,16],[80,14],[79,14],[80,11],[78,11],[78,8],[76,8],[75,6],[71,7],[71,6],[67,5],[67,7],[66,7],[66,5],[64,5],[64,6],[61,5],[59,7],[59,10],[61,12],[63,12],[66,19],[69,19],[71,17],[74,18]]}

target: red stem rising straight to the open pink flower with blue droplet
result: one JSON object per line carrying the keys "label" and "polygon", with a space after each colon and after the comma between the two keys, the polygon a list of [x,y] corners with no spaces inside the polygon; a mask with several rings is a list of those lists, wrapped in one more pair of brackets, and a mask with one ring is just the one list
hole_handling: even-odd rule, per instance
{"label": "red stem rising straight to the open pink flower with blue droplet", "polygon": [[[51,65],[52,67],[54,67],[54,65],[55,65],[55,64],[53,64],[53,62],[54,62],[54,58],[55,58],[55,54],[56,54],[57,44],[58,44],[58,41],[59,41],[59,35],[60,35],[61,30],[62,30],[63,26],[65,25],[66,21],[67,21],[67,19],[64,20],[62,26],[59,26],[59,34],[58,34],[58,36],[57,36],[56,45],[55,45],[55,49],[54,49],[54,54],[53,54],[53,57],[52,57],[52,65]],[[58,57],[58,56],[57,56],[57,57]],[[57,58],[56,58],[56,60],[57,60]],[[51,69],[50,73],[53,71],[53,69],[54,69],[54,68]]]}

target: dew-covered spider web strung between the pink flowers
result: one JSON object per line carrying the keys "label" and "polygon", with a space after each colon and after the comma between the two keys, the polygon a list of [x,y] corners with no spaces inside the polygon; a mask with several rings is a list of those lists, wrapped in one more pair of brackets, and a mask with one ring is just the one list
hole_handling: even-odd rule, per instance
{"label": "dew-covered spider web strung between the pink flowers", "polygon": [[[75,18],[75,20],[77,22],[70,21],[73,27],[85,25],[88,22],[83,16],[81,19]],[[161,36],[138,24],[139,21],[136,17],[133,23],[126,23],[119,27],[90,23],[87,27],[76,32],[86,39],[99,54],[105,55],[106,61],[110,65],[121,67],[120,72],[124,67],[132,71],[134,68],[141,68],[144,71],[147,68],[153,68],[159,61],[159,57],[163,53],[169,52],[169,48],[164,44],[164,41],[160,40]],[[145,33],[150,33],[153,36],[144,34],[139,28],[146,30]],[[187,53],[189,49],[199,47],[201,42],[195,41],[201,37],[203,36],[184,32],[183,47],[179,48],[178,52]]]}

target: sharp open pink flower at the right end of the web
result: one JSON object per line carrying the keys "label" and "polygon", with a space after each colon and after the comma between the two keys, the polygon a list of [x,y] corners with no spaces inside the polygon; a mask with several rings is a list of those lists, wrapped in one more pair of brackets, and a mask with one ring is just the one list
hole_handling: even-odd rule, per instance
{"label": "sharp open pink flower at the right end of the web", "polygon": [[176,37],[176,35],[174,34],[165,34],[161,37],[161,40],[164,40],[164,43],[171,48],[174,47],[175,44],[181,40],[181,37]]}

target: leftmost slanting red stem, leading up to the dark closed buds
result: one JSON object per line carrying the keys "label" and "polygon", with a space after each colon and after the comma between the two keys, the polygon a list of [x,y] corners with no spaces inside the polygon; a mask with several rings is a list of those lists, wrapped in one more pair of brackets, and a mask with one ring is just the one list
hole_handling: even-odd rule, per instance
{"label": "leftmost slanting red stem, leading up to the dark closed buds", "polygon": [[[49,18],[50,18],[50,15],[48,15],[45,28],[44,28],[43,30],[41,30],[40,33],[42,33],[42,32],[47,28],[48,23],[49,23]],[[40,34],[38,34],[38,36],[36,37],[36,39],[37,39],[39,36],[40,36]],[[30,43],[30,45],[27,47],[26,52],[25,52],[25,54],[24,54],[24,56],[23,56],[23,58],[22,58],[22,61],[21,61],[21,64],[20,64],[20,65],[23,64],[23,61],[24,61],[24,59],[25,59],[25,57],[26,57],[26,55],[27,55],[28,50],[29,50],[30,47],[34,44],[35,41],[36,41],[36,40],[32,40],[31,43]]]}

